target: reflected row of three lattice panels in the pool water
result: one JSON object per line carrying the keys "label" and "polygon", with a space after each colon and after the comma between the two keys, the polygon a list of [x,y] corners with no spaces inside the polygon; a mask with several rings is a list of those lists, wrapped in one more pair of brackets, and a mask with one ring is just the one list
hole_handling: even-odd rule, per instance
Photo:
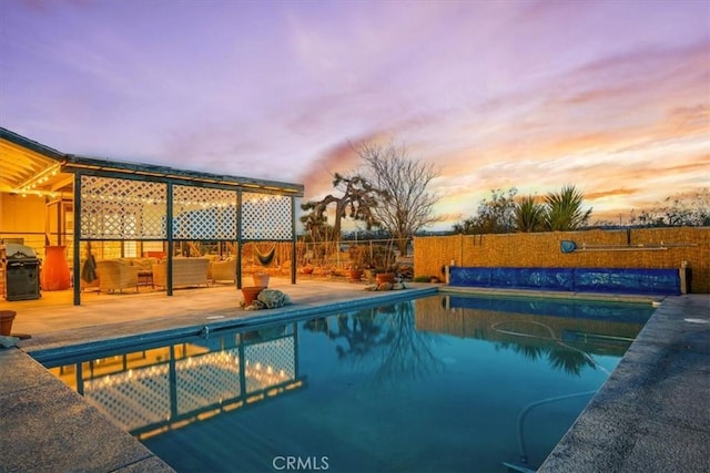
{"label": "reflected row of three lattice panels in the pool water", "polygon": [[[192,347],[193,353],[200,349]],[[84,379],[83,395],[122,429],[148,432],[180,426],[207,410],[253,402],[247,394],[295,381],[295,340],[286,336],[250,342],[243,354],[239,347],[226,348]]]}

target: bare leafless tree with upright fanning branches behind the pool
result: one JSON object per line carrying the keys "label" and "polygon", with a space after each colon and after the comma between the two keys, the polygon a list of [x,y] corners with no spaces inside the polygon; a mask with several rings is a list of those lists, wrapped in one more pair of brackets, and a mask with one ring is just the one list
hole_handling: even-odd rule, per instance
{"label": "bare leafless tree with upright fanning branches behind the pool", "polygon": [[414,234],[439,220],[434,214],[438,195],[427,186],[439,175],[432,164],[412,157],[405,145],[361,143],[353,150],[363,160],[363,175],[377,189],[379,203],[372,213],[397,240],[402,256]]}

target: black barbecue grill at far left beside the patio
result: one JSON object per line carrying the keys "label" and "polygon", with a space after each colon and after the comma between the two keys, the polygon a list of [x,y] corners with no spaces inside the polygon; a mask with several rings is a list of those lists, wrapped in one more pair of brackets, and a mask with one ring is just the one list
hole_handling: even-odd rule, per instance
{"label": "black barbecue grill at far left beside the patio", "polygon": [[9,243],[6,245],[6,299],[39,299],[40,259],[32,247]]}

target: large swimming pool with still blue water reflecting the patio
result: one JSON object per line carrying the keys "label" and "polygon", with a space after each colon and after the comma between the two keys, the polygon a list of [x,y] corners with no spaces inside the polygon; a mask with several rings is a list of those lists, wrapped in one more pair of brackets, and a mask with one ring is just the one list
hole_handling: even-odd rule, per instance
{"label": "large swimming pool with still blue water reflecting the patio", "polygon": [[535,469],[652,310],[437,295],[50,368],[178,471]]}

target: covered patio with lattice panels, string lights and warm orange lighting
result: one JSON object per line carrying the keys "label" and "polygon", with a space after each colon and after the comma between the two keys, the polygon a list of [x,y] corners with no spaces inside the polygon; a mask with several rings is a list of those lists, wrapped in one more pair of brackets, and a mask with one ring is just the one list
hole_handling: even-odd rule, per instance
{"label": "covered patio with lattice panels, string lights and warm orange lighting", "polygon": [[74,305],[103,290],[102,274],[111,290],[151,285],[168,296],[215,278],[241,288],[245,268],[266,266],[296,282],[301,184],[65,154],[2,127],[0,167],[0,238],[33,249],[41,270],[27,278],[73,289]]}

